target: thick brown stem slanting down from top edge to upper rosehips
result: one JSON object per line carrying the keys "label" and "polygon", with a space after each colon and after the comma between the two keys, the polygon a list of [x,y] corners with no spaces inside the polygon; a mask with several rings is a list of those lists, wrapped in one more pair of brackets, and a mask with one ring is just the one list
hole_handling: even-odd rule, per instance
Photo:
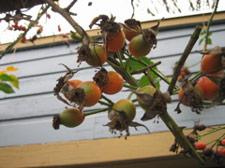
{"label": "thick brown stem slanting down from top edge to upper rosehips", "polygon": [[82,37],[82,44],[84,46],[88,46],[90,42],[89,36],[87,35],[86,31],[70,16],[70,14],[55,4],[53,0],[45,0],[45,2],[48,3],[55,11],[61,14],[70,23],[70,25]]}

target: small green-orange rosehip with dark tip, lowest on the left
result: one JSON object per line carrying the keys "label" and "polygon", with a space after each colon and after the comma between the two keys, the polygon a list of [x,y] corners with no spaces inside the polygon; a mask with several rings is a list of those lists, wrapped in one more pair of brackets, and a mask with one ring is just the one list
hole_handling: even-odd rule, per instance
{"label": "small green-orange rosehip with dark tip, lowest on the left", "polygon": [[59,129],[60,125],[69,128],[77,127],[84,121],[84,113],[78,108],[67,108],[62,113],[53,117],[53,128]]}

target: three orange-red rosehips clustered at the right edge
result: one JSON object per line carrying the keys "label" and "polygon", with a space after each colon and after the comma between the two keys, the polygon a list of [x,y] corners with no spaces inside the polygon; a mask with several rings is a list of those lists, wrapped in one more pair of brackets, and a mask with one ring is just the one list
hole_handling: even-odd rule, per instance
{"label": "three orange-red rosehips clustered at the right edge", "polygon": [[[184,82],[179,91],[180,102],[192,108],[203,108],[202,100],[221,103],[225,98],[223,53],[207,53],[201,61],[202,75],[192,83]],[[196,110],[198,112],[198,110]]]}

